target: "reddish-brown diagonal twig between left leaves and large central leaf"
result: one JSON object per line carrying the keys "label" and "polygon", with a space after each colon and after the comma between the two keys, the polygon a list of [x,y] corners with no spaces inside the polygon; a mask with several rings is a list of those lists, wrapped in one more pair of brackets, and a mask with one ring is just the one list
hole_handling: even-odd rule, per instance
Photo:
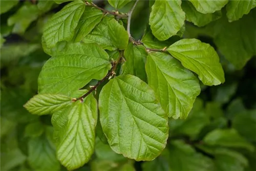
{"label": "reddish-brown diagonal twig between left leaves and large central leaf", "polygon": [[110,71],[108,72],[108,74],[106,74],[106,76],[104,78],[102,78],[101,80],[99,80],[95,86],[93,86],[86,94],[82,95],[79,98],[73,98],[72,101],[75,102],[77,100],[81,100],[81,102],[83,101],[84,98],[86,98],[89,94],[91,94],[94,90],[97,89],[97,87],[104,82],[106,79],[110,79],[113,75],[115,75],[115,70],[116,67],[118,65],[118,63],[120,63],[122,61],[122,56],[123,56],[123,51],[119,52],[119,58],[116,61],[112,62],[112,68],[110,69]]}

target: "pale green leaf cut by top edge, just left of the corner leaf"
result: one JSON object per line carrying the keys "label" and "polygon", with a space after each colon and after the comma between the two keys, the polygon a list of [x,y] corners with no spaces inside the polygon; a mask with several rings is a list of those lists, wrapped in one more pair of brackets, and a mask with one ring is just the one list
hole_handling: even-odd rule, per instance
{"label": "pale green leaf cut by top edge, just left of the corner leaf", "polygon": [[198,12],[201,12],[203,14],[206,13],[214,13],[215,11],[219,11],[224,7],[228,0],[188,0],[190,1],[194,7],[197,9]]}

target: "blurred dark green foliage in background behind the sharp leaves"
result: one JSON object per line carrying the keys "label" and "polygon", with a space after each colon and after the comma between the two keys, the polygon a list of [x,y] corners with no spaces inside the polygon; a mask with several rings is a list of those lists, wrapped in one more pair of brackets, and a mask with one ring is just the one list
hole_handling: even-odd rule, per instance
{"label": "blurred dark green foliage in background behind the sharp leaves", "polygon": [[[113,10],[106,1],[95,3]],[[42,49],[42,28],[52,14],[64,6],[58,4],[51,0],[1,0],[1,171],[66,170],[55,156],[51,117],[31,115],[23,108],[37,93],[38,74],[50,57]],[[129,2],[120,12],[129,11],[131,6]],[[131,27],[136,39],[142,38],[149,13],[148,1],[140,1]],[[95,154],[88,164],[77,170],[256,170],[256,60],[249,60],[256,54],[256,11],[252,9],[232,23],[228,22],[224,10],[222,17],[219,13],[207,15],[215,21],[206,23],[205,27],[187,22],[183,37],[199,38],[216,47],[226,82],[217,87],[202,86],[186,120],[169,119],[169,139],[164,152],[149,162],[124,158],[112,151],[101,127],[97,127]],[[143,38],[146,36],[152,36],[152,41],[145,46],[155,48],[154,42],[158,40],[153,40],[151,33]],[[163,46],[158,48],[172,42],[163,41]]]}

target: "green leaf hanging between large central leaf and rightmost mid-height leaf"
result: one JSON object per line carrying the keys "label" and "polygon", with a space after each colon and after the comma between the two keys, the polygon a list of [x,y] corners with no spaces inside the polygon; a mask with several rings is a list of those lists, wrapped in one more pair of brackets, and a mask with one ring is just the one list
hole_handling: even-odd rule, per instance
{"label": "green leaf hanging between large central leaf and rightmost mid-height leaf", "polygon": [[185,119],[200,94],[197,77],[165,53],[151,53],[146,61],[148,85],[169,117]]}

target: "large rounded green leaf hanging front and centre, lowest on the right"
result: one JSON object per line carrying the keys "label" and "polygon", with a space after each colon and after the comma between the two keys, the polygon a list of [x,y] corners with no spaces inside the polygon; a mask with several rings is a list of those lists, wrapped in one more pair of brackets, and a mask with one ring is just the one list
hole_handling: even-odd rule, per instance
{"label": "large rounded green leaf hanging front and centre, lowest on the right", "polygon": [[118,154],[153,160],[168,137],[167,116],[153,90],[133,75],[110,80],[99,95],[100,122],[108,142]]}

